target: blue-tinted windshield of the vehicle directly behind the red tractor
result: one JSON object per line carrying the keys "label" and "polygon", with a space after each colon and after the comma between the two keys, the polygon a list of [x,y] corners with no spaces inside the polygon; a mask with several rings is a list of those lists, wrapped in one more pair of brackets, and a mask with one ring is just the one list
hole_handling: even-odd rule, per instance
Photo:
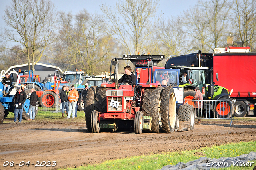
{"label": "blue-tinted windshield of the vehicle directly behind the red tractor", "polygon": [[166,79],[168,84],[177,85],[177,71],[156,71],[156,83],[161,83]]}

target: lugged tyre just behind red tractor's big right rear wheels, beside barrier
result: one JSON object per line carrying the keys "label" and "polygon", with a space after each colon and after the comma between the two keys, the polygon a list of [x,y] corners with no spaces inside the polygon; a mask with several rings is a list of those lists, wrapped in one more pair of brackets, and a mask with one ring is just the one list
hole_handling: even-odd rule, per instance
{"label": "lugged tyre just behind red tractor's big right rear wheels, beside barrier", "polygon": [[190,122],[190,130],[193,130],[195,127],[195,110],[192,105],[180,105],[178,116],[180,121]]}

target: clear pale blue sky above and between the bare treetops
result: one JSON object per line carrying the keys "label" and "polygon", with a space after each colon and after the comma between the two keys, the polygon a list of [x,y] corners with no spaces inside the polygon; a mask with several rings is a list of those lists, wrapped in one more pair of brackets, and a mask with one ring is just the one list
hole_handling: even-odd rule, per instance
{"label": "clear pale blue sky above and between the bare treetops", "polygon": [[[194,6],[198,0],[159,0],[158,12],[163,12],[163,17],[176,16],[187,10],[190,6]],[[0,0],[0,28],[5,27],[2,19],[6,6],[10,6],[12,0]],[[118,0],[52,0],[57,11],[72,12],[76,14],[80,10],[86,9],[89,13],[102,14],[100,6],[108,4],[115,6]]]}

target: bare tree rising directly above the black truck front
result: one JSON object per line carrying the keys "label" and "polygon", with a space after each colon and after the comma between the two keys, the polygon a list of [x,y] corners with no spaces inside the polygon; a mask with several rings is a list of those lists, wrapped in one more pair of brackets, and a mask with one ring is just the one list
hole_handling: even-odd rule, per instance
{"label": "bare tree rising directly above the black truck front", "polygon": [[230,8],[227,0],[199,1],[184,13],[184,26],[194,39],[193,50],[212,52],[226,44]]}

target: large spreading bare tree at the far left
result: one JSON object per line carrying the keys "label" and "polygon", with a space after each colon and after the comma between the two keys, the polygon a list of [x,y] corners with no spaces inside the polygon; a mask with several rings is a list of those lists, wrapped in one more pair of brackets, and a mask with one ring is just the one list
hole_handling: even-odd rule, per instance
{"label": "large spreading bare tree at the far left", "polygon": [[35,63],[54,39],[54,4],[50,0],[12,0],[11,5],[4,10],[3,19],[8,26],[3,38],[25,47],[22,52],[27,56],[28,69],[32,60],[34,70]]}

